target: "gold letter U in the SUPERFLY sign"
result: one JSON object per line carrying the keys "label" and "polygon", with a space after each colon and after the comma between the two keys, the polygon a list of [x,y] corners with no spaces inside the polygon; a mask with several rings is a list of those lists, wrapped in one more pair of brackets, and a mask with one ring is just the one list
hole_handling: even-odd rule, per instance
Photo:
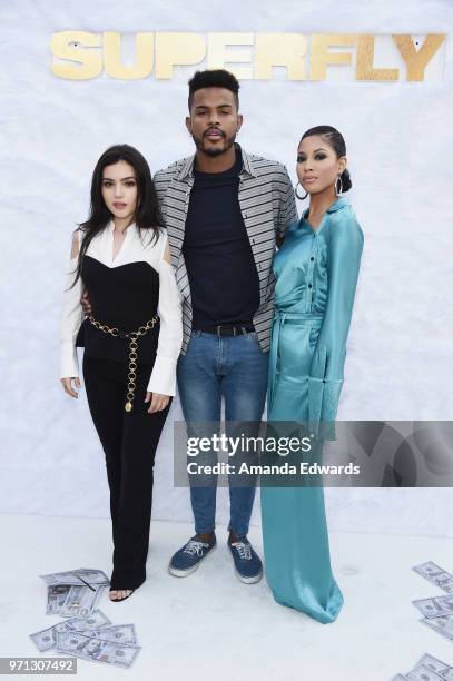
{"label": "gold letter U in the SUPERFLY sign", "polygon": [[154,66],[154,33],[136,34],[136,62],[132,66],[121,63],[121,36],[114,31],[104,33],[105,69],[111,78],[137,80],[146,78]]}

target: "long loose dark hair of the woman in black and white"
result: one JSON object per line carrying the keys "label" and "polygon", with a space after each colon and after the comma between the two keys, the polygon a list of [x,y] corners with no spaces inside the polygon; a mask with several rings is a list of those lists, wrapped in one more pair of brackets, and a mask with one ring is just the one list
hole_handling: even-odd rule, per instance
{"label": "long loose dark hair of the woman in black and white", "polygon": [[93,237],[102,231],[111,219],[111,213],[106,206],[102,197],[102,172],[106,166],[112,166],[124,160],[132,166],[137,178],[137,210],[134,221],[140,233],[146,230],[151,233],[151,240],[159,238],[160,217],[157,204],[157,194],[151,179],[151,171],[146,158],[135,147],[129,145],[115,145],[109,147],[96,164],[91,179],[90,215],[88,220],[79,224],[79,229],[83,237],[80,244],[79,258],[75,270],[76,278],[72,286],[81,276],[81,264],[83,255]]}

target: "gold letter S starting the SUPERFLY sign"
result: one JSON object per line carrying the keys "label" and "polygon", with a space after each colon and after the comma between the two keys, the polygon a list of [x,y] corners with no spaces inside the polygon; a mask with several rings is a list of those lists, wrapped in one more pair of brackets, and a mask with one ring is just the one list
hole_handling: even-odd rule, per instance
{"label": "gold letter S starting the SUPERFLY sign", "polygon": [[96,78],[102,72],[102,53],[98,50],[87,50],[86,48],[101,47],[101,39],[98,33],[87,31],[60,31],[53,33],[50,40],[50,49],[53,57],[75,61],[75,63],[52,63],[52,73],[59,78],[69,80],[88,80]]}

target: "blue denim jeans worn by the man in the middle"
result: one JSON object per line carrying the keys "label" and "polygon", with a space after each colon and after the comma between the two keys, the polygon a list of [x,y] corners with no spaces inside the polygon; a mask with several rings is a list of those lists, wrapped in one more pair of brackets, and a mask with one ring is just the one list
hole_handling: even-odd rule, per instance
{"label": "blue denim jeans worn by the man in the middle", "polygon": [[[225,421],[255,421],[263,416],[267,389],[268,353],[264,353],[255,332],[237,336],[216,336],[194,330],[185,355],[178,359],[178,388],[189,436],[210,436],[195,432],[191,422],[220,423],[221,397]],[[209,425],[209,424],[207,424]],[[218,432],[218,431],[217,431]],[[215,464],[217,455],[204,454],[204,464]],[[189,476],[190,480],[191,476]],[[190,486],[195,531],[211,532],[216,519],[217,476],[208,486]],[[230,519],[228,530],[237,536],[248,532],[255,485],[238,486],[229,480]]]}

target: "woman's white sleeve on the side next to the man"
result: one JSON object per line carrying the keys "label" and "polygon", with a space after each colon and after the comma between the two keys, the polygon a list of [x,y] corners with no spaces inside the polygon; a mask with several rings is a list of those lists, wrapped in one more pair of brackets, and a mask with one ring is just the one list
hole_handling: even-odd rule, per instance
{"label": "woman's white sleeve on the side next to the man", "polygon": [[178,290],[170,264],[167,233],[159,241],[159,340],[148,391],[161,395],[176,395],[176,365],[183,345],[183,295]]}

